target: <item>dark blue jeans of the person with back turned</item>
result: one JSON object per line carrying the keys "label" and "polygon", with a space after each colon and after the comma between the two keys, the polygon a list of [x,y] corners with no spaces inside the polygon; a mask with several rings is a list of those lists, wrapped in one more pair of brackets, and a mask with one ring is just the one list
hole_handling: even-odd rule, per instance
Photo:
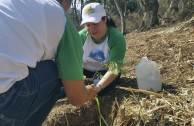
{"label": "dark blue jeans of the person with back turned", "polygon": [[60,97],[54,61],[39,62],[29,75],[0,94],[0,126],[41,126]]}

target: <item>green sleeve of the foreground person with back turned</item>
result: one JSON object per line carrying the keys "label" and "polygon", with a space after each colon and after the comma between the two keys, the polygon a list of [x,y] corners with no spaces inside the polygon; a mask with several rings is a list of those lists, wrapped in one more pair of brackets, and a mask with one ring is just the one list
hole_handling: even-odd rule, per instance
{"label": "green sleeve of the foreground person with back turned", "polygon": [[67,14],[65,17],[65,30],[56,55],[59,77],[63,80],[83,80],[81,38]]}

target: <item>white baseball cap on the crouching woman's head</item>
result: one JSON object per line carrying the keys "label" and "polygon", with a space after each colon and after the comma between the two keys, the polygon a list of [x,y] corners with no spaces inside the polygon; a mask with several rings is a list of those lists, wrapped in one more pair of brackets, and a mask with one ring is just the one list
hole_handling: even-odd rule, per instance
{"label": "white baseball cap on the crouching woman's head", "polygon": [[82,10],[81,25],[87,22],[98,23],[104,16],[106,16],[106,11],[100,3],[89,3]]}

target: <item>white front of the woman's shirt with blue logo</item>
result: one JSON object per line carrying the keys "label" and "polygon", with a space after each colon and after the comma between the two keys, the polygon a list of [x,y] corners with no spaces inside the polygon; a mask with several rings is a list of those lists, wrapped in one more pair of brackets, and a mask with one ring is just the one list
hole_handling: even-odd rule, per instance
{"label": "white front of the woman's shirt with blue logo", "polygon": [[83,68],[92,72],[108,70],[106,63],[109,62],[108,37],[100,43],[93,42],[90,35],[86,38],[83,46]]}

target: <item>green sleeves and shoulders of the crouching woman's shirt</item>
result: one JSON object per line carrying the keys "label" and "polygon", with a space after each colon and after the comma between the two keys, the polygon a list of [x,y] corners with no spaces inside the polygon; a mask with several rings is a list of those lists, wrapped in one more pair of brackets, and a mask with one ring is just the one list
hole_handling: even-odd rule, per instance
{"label": "green sleeves and shoulders of the crouching woman's shirt", "polygon": [[[88,31],[86,28],[84,28],[79,32],[79,34],[82,38],[82,44],[84,45],[88,37]],[[107,27],[107,32],[105,36],[99,41],[98,44],[101,44],[107,37],[108,37],[108,47],[110,50],[109,61],[110,63],[116,62],[120,66],[123,64],[123,59],[125,57],[126,52],[125,38],[117,28]]]}

